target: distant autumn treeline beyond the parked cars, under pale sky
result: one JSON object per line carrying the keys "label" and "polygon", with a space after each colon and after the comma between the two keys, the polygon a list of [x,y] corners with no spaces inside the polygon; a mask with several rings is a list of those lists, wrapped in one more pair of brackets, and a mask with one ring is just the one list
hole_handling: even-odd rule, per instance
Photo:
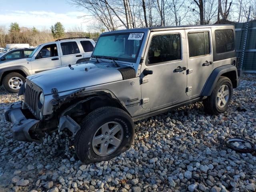
{"label": "distant autumn treeline beyond the parked cars, under pale sky", "polygon": [[[53,27],[53,28],[52,28]],[[11,23],[9,27],[0,26],[0,47],[10,43],[28,43],[30,46],[38,46],[59,38],[90,37],[97,38],[99,33],[87,33],[80,27],[74,27],[64,31],[64,26],[57,22],[51,28],[37,29],[20,27],[18,23]],[[55,27],[55,28],[54,28]]]}

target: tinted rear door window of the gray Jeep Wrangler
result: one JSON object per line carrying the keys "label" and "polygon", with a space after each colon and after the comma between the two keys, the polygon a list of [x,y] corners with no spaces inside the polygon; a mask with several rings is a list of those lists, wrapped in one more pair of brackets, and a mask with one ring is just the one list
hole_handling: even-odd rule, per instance
{"label": "tinted rear door window of the gray Jeep Wrangler", "polygon": [[188,33],[189,57],[210,54],[209,32]]}

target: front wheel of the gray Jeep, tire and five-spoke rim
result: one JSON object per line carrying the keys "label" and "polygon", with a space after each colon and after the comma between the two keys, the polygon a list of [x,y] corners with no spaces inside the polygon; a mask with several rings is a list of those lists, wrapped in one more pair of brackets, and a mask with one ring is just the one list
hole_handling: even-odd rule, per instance
{"label": "front wheel of the gray Jeep, tire and five-spoke rim", "polygon": [[[132,118],[124,110],[115,107],[102,107],[92,111],[84,118],[80,127],[75,136],[75,147],[79,160],[85,164],[118,156],[130,148],[134,139]],[[114,130],[114,134],[111,130]]]}

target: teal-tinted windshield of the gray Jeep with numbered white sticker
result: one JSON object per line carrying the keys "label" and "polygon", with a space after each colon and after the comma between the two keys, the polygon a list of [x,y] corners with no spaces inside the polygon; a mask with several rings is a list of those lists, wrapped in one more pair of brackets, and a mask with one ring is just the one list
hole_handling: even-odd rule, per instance
{"label": "teal-tinted windshield of the gray Jeep with numbered white sticker", "polygon": [[136,62],[144,33],[114,33],[100,36],[92,57]]}

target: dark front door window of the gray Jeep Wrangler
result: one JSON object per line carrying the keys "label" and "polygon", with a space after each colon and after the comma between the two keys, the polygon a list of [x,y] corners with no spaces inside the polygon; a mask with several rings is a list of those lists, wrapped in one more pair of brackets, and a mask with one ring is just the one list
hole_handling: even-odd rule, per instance
{"label": "dark front door window of the gray Jeep Wrangler", "polygon": [[148,50],[148,64],[180,59],[180,34],[164,34],[152,37]]}

